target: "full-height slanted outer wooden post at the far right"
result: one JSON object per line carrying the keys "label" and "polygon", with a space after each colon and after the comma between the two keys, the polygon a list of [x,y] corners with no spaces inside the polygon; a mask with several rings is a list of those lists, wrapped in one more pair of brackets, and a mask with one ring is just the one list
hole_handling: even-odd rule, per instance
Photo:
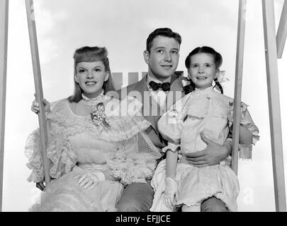
{"label": "full-height slanted outer wooden post at the far right", "polygon": [[275,206],[276,211],[286,212],[274,1],[262,0],[262,12]]}

